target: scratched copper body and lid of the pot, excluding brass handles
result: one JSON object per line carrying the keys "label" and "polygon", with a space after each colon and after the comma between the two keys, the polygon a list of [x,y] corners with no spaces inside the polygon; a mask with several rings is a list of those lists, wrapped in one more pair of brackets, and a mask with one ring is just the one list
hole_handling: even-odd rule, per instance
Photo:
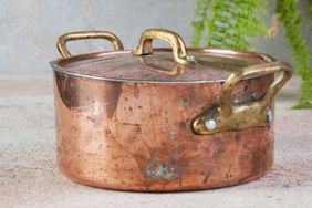
{"label": "scratched copper body and lid of the pot, excluding brass handles", "polygon": [[[162,56],[168,50],[158,52],[169,60]],[[272,59],[221,51],[231,58],[205,61],[206,53],[220,51],[188,52],[202,58],[199,67],[209,69],[201,75],[191,67],[159,75],[153,69],[174,65],[153,60],[157,56],[132,58],[129,51],[53,62],[60,169],[82,184],[139,191],[207,189],[262,176],[273,162],[273,125],[196,135],[190,124],[218,104],[220,86],[233,70]],[[257,101],[272,81],[273,75],[243,80],[231,100]]]}

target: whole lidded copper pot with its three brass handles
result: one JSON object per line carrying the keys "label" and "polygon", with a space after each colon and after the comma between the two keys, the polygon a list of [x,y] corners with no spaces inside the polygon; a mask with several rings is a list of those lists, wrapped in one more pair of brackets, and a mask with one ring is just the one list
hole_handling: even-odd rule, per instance
{"label": "whole lidded copper pot with its three brass handles", "polygon": [[[72,56],[66,42],[89,38],[104,38],[115,51]],[[171,49],[153,49],[154,39]],[[291,77],[289,64],[253,52],[186,49],[163,29],[144,31],[135,50],[101,31],[64,34],[58,48],[58,160],[71,179],[191,190],[246,183],[272,166],[273,97]]]}

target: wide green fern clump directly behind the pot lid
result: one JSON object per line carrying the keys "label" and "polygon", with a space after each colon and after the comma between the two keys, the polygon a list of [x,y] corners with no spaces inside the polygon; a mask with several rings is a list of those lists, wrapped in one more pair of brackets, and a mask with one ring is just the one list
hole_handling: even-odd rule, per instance
{"label": "wide green fern clump directly behind the pot lid", "polygon": [[249,38],[267,32],[259,15],[266,13],[267,0],[198,0],[193,22],[193,45],[199,46],[206,32],[205,46],[250,50]]}

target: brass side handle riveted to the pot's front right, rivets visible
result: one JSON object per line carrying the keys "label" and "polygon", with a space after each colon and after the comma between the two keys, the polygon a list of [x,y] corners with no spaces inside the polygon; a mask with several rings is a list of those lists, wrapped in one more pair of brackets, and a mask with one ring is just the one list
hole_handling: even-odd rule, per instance
{"label": "brass side handle riveted to the pot's front right, rivets visible", "polygon": [[[239,81],[247,76],[262,76],[275,72],[281,73],[260,101],[231,105],[231,91]],[[215,134],[270,125],[273,115],[270,108],[271,102],[292,73],[291,65],[284,62],[258,64],[233,72],[221,86],[219,106],[205,110],[194,118],[191,123],[194,133]]]}

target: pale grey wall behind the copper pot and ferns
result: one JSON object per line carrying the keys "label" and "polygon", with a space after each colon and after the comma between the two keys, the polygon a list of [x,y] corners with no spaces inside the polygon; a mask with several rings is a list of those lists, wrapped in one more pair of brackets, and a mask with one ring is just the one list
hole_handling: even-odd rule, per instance
{"label": "pale grey wall behind the copper pot and ferns", "polygon": [[[76,30],[108,30],[116,33],[126,49],[135,48],[147,28],[178,32],[190,45],[196,0],[0,0],[0,71],[49,70],[59,56],[58,37]],[[272,13],[275,1],[270,1]],[[306,0],[299,7],[306,19]],[[267,17],[270,22],[271,15]],[[308,19],[303,28],[308,39]],[[257,51],[290,61],[291,50],[280,27],[278,37],[253,40]],[[72,42],[73,53],[111,49],[105,41]],[[311,46],[311,40],[310,40]]]}

